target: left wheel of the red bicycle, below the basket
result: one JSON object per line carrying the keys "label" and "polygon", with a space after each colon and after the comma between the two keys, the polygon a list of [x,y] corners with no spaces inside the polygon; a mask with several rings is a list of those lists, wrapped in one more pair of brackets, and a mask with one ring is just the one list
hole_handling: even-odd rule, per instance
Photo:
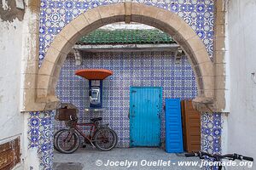
{"label": "left wheel of the red bicycle, below the basket", "polygon": [[56,148],[65,154],[72,154],[79,149],[79,134],[72,129],[63,129],[56,137]]}

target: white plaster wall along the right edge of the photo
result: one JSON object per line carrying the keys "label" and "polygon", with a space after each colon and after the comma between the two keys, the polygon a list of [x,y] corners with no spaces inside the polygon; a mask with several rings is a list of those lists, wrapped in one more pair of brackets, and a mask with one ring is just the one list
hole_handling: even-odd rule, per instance
{"label": "white plaster wall along the right edge of the photo", "polygon": [[[256,1],[230,0],[228,16],[230,48],[228,152],[253,156],[256,159],[256,78],[253,82],[252,77],[252,73],[256,72]],[[256,169],[256,166],[253,169]]]}

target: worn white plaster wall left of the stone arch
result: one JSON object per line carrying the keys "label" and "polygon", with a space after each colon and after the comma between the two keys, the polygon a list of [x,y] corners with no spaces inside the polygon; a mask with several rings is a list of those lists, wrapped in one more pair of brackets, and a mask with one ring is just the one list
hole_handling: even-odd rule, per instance
{"label": "worn white plaster wall left of the stone arch", "polygon": [[0,143],[23,133],[20,114],[22,22],[0,21]]}

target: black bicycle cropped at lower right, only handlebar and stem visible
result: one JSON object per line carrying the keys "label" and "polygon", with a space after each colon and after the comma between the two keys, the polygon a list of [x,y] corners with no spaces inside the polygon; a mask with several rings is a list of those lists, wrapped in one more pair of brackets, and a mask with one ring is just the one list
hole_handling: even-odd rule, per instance
{"label": "black bicycle cropped at lower right, only handlebar and stem visible", "polygon": [[[247,161],[253,161],[253,157],[248,157],[248,156],[241,156],[241,155],[238,155],[238,154],[227,154],[227,155],[218,155],[218,154],[214,154],[214,155],[211,155],[211,154],[208,154],[207,152],[202,152],[202,151],[198,151],[198,152],[195,152],[195,153],[187,153],[185,154],[186,157],[191,157],[191,156],[198,156],[200,159],[209,159],[209,158],[212,158],[212,161],[213,162],[218,162],[218,167],[213,167],[211,169],[218,169],[218,170],[222,170],[222,168],[224,167],[223,166],[223,159],[228,159],[228,160],[232,160],[232,161],[235,161],[235,160],[240,160],[240,161],[243,161],[243,160],[247,160]],[[205,169],[208,169],[207,167]],[[225,167],[224,167],[225,169]]]}

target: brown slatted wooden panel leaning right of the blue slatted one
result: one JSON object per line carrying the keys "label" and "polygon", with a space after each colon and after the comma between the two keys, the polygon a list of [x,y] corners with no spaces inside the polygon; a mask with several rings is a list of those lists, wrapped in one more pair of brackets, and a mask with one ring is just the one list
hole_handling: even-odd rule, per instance
{"label": "brown slatted wooden panel leaning right of the blue slatted one", "polygon": [[201,115],[195,111],[192,100],[183,100],[184,149],[188,152],[201,150]]}

